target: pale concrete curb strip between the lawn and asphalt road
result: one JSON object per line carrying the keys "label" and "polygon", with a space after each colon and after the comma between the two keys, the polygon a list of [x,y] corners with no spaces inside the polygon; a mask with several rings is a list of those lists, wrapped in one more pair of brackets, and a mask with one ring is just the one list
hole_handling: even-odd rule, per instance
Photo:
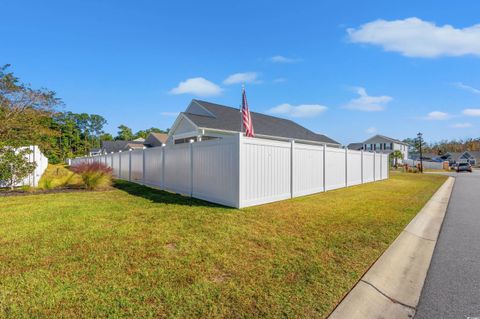
{"label": "pale concrete curb strip between the lawn and asphalt road", "polygon": [[454,183],[445,181],[329,319],[414,316]]}

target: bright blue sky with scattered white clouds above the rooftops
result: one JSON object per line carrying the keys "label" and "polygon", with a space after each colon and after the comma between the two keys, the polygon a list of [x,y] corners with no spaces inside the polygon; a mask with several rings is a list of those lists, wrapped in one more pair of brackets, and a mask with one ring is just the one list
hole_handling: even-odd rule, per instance
{"label": "bright blue sky with scattered white clouds above the rooftops", "polygon": [[[476,1],[9,1],[0,64],[107,131],[167,128],[192,98],[343,143],[480,136]],[[255,123],[254,123],[255,125]]]}

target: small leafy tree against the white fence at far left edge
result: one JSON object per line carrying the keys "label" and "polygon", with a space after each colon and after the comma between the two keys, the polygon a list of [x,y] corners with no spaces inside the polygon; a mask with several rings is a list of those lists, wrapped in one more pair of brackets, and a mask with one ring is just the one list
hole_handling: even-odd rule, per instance
{"label": "small leafy tree against the white fence at far left edge", "polygon": [[2,147],[0,149],[0,181],[7,187],[13,188],[30,175],[37,163],[28,160],[29,148],[14,149]]}

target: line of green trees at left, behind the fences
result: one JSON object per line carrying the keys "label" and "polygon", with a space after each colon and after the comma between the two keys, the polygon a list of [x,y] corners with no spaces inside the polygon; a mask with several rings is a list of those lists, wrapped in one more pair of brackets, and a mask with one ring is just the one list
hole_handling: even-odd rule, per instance
{"label": "line of green trees at left, behind the fences", "polygon": [[33,89],[0,67],[0,148],[38,145],[51,163],[85,155],[101,141],[145,138],[158,128],[133,132],[126,125],[116,136],[104,131],[107,120],[98,114],[60,111],[64,103],[54,91]]}

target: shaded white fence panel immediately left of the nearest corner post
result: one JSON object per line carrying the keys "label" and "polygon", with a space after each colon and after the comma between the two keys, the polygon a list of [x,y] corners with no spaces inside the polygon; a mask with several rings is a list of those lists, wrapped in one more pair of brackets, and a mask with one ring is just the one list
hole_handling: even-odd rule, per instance
{"label": "shaded white fence panel immediately left of the nearest corner post", "polygon": [[238,138],[192,144],[192,196],[227,206],[238,201]]}

